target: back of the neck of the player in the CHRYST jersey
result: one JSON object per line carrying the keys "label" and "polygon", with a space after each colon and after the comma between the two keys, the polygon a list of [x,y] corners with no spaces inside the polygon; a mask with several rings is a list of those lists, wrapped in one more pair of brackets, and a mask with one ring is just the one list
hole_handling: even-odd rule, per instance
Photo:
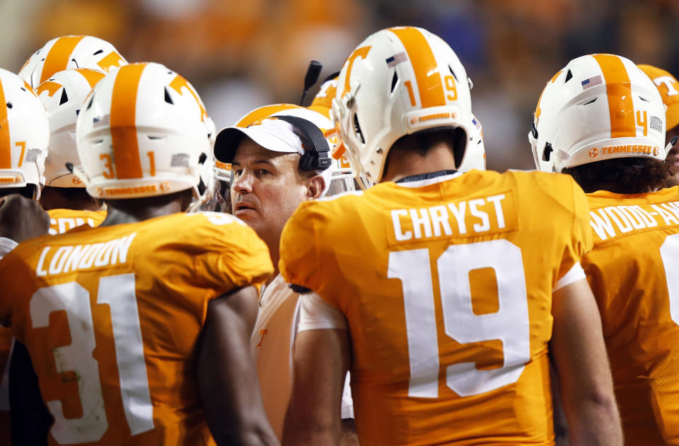
{"label": "back of the neck of the player in the CHRYST jersey", "polygon": [[388,165],[381,181],[398,181],[407,176],[457,169],[455,156],[448,144],[436,144],[426,154],[399,150],[389,154]]}

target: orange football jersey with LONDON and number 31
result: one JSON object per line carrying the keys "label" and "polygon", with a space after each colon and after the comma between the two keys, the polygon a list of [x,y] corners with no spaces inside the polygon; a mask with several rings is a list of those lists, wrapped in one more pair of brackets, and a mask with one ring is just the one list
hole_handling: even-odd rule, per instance
{"label": "orange football jersey with LONDON and number 31", "polygon": [[272,270],[255,231],[225,214],[20,244],[0,262],[0,323],[28,348],[50,444],[214,444],[195,381],[207,304]]}

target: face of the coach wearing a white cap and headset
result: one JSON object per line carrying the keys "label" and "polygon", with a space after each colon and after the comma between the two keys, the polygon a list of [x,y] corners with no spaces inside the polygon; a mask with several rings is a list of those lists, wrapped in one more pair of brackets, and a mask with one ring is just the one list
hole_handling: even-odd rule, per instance
{"label": "face of the coach wearing a white cap and headset", "polygon": [[323,178],[300,171],[299,159],[299,154],[271,151],[247,137],[233,157],[233,215],[255,229],[269,251],[278,251],[283,227],[297,206],[323,191]]}

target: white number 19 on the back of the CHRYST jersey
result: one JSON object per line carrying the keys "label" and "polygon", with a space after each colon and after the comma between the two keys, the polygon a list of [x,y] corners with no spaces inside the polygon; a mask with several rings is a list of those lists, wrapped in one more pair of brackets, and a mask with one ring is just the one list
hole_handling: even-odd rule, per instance
{"label": "white number 19 on the back of the CHRYST jersey", "polygon": [[[469,273],[493,268],[499,310],[474,314]],[[530,360],[526,279],[521,249],[500,239],[448,246],[436,261],[443,326],[458,343],[502,341],[502,367],[478,370],[475,362],[446,367],[446,384],[460,396],[477,395],[518,380]],[[389,253],[388,278],[400,279],[410,358],[408,396],[439,396],[439,343],[429,249]]]}

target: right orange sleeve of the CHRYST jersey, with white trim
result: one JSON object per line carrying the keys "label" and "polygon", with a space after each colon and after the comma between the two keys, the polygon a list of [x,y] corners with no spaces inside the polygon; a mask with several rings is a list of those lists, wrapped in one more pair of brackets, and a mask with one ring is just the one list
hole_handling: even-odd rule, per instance
{"label": "right orange sleeve of the CHRYST jersey, with white trim", "polygon": [[564,246],[559,271],[554,284],[555,288],[564,287],[576,280],[584,278],[584,273],[581,273],[582,268],[580,261],[593,247],[587,196],[570,176],[567,176],[566,178],[569,183],[570,196],[565,199],[571,200],[573,204],[571,207],[571,232],[569,234],[569,239]]}

